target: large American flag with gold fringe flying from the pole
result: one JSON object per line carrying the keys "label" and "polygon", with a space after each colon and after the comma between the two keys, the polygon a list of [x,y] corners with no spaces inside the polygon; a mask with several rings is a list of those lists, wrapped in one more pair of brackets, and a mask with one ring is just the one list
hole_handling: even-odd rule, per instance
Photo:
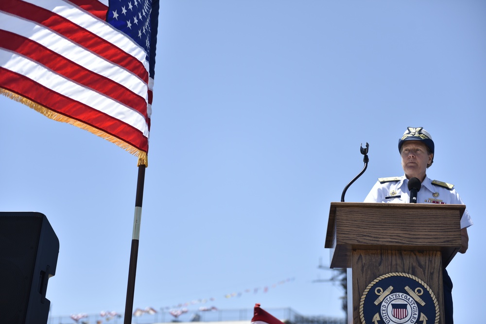
{"label": "large American flag with gold fringe flying from the pole", "polygon": [[0,0],[0,93],[147,165],[159,0]]}

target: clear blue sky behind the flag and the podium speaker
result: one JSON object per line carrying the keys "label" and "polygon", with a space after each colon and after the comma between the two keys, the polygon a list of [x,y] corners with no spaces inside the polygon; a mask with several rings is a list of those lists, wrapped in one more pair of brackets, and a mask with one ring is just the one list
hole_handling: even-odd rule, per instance
{"label": "clear blue sky behind the flag and the podium speaker", "polygon": [[[330,202],[361,171],[361,143],[369,167],[347,202],[402,175],[398,138],[423,126],[428,176],[454,184],[475,223],[448,267],[455,318],[481,323],[485,10],[161,0],[134,307],[214,298],[204,306],[344,316],[340,288],[312,283],[331,275],[317,269],[329,264]],[[4,97],[0,107],[0,209],[44,213],[60,240],[52,315],[122,313],[137,158]]]}

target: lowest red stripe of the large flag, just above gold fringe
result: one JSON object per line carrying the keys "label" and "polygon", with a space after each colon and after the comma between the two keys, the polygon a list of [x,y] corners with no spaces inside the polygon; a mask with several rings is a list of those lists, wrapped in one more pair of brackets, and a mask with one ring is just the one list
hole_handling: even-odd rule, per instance
{"label": "lowest red stripe of the large flag, just above gold fringe", "polygon": [[83,105],[81,102],[76,102],[69,97],[60,95],[58,92],[36,83],[28,77],[0,67],[0,84],[11,85],[10,87],[3,87],[16,94],[30,97],[35,103],[43,102],[51,107],[55,106],[57,109],[50,108],[55,113],[68,116],[94,128],[103,128],[107,134],[130,143],[138,150],[144,152],[148,150],[148,138],[140,136],[138,129],[127,125],[118,118],[113,118],[88,105]]}

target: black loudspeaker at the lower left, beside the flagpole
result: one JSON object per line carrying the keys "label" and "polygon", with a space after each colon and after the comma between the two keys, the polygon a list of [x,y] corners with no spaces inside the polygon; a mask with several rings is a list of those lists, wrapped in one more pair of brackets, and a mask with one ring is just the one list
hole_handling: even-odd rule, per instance
{"label": "black loudspeaker at the lower left, beside the flagpole", "polygon": [[0,212],[0,323],[46,324],[59,239],[46,216]]}

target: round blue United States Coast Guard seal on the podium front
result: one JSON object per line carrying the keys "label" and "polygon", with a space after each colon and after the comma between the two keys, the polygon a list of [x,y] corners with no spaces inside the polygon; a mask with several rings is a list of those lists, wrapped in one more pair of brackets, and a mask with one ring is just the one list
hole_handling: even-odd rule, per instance
{"label": "round blue United States Coast Guard seal on the podium front", "polygon": [[434,292],[409,273],[387,273],[373,280],[360,301],[363,324],[438,324]]}

